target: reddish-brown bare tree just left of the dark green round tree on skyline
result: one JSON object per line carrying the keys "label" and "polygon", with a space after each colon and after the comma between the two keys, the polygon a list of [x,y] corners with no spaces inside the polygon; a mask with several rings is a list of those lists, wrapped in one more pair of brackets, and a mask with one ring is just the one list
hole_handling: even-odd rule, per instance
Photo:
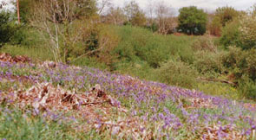
{"label": "reddish-brown bare tree just left of the dark green round tree on skyline", "polygon": [[167,6],[167,3],[160,1],[155,4],[155,15],[159,26],[158,32],[167,35],[169,31],[172,31],[176,22],[174,20],[174,13],[171,6]]}

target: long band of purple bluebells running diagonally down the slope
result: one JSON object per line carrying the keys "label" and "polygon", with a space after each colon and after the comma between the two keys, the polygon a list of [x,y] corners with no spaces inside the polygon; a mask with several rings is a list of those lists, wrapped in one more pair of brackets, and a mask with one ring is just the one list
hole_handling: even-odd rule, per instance
{"label": "long band of purple bluebells running diagonally down the slope", "polygon": [[[18,65],[0,62],[0,76],[11,77],[14,71],[22,69],[32,71],[35,67],[33,64]],[[131,108],[133,116],[139,116],[141,120],[148,120],[152,123],[161,122],[161,132],[166,133],[166,136],[169,135],[170,129],[186,129],[195,132],[202,129],[200,126],[208,124],[220,124],[223,127],[225,124],[232,124],[242,128],[246,136],[255,130],[256,109],[248,110],[243,103],[233,105],[229,99],[213,97],[203,92],[176,86],[167,86],[154,81],[137,80],[128,75],[103,72],[89,67],[77,68],[59,64],[56,68],[37,66],[36,69],[42,73],[28,76],[28,79],[35,82],[49,81],[78,90],[89,90],[91,86],[99,84],[102,90],[122,100],[121,104],[128,102],[130,106],[133,106]],[[179,102],[180,99],[209,99],[216,107],[189,110],[183,107],[184,103]],[[120,103],[116,104],[120,105]],[[170,108],[172,105],[175,105],[175,111]],[[220,139],[225,135],[220,131]]]}

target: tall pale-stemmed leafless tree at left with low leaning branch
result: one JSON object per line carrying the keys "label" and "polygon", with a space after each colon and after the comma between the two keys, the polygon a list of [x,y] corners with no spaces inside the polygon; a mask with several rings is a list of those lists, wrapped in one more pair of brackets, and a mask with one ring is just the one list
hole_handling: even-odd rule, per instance
{"label": "tall pale-stemmed leafless tree at left with low leaning branch", "polygon": [[[95,20],[88,20],[87,11],[92,9],[90,0],[41,0],[36,1],[31,25],[38,29],[45,40],[49,40],[49,49],[54,54],[57,62],[67,62],[68,55],[78,42],[86,42],[91,35],[90,29],[94,28]],[[82,4],[84,4],[82,7]],[[84,20],[83,20],[84,19]],[[105,41],[105,40],[102,40]],[[104,45],[102,45],[104,46]],[[75,53],[82,57],[91,52]]]}

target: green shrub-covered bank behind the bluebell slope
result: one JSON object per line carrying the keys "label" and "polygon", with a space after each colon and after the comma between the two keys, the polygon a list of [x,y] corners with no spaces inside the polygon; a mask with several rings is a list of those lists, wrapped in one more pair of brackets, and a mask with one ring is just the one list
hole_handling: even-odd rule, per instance
{"label": "green shrub-covered bank behind the bluebell slope", "polygon": [[[35,29],[25,28],[23,32],[24,42],[7,44],[0,52],[26,55],[34,60],[54,60],[49,41],[43,41]],[[84,57],[71,55],[79,59],[69,64],[128,74],[230,99],[256,98],[253,49],[226,49],[220,45],[219,38],[209,35],[159,35],[132,26],[102,25],[99,34],[108,39],[106,48]],[[77,46],[73,53],[82,52],[85,47]]]}

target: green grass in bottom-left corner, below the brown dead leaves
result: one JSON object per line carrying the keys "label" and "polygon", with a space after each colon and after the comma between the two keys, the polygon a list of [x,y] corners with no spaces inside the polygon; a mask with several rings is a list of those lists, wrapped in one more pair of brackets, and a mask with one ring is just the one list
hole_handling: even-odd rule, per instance
{"label": "green grass in bottom-left corner, below the brown dead leaves", "polygon": [[[77,132],[72,128],[72,121],[44,118],[31,111],[2,108],[0,106],[0,138],[8,140],[52,140],[52,139],[101,139],[95,130]],[[84,122],[83,122],[84,123]]]}

